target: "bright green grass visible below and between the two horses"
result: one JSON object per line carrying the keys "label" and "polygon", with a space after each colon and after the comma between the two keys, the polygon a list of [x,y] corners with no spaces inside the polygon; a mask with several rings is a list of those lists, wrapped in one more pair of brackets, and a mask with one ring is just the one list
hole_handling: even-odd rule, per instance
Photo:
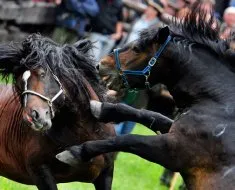
{"label": "bright green grass visible below and between the two horses", "polygon": [[[137,125],[135,134],[153,134],[150,130]],[[115,162],[113,190],[167,190],[160,184],[163,168],[138,156],[120,153]],[[181,179],[177,183],[177,187]],[[22,185],[0,177],[0,190],[36,190],[35,186]],[[178,189],[178,188],[176,188]],[[94,190],[92,184],[67,183],[60,184],[59,190]]]}

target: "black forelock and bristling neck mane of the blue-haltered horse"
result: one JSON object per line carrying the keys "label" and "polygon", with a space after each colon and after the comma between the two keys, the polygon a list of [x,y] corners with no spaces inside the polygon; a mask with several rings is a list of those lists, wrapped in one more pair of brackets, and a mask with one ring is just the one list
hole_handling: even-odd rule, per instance
{"label": "black forelock and bristling neck mane of the blue-haltered horse", "polygon": [[[224,56],[229,49],[229,43],[232,35],[228,40],[222,40],[219,37],[219,23],[213,13],[209,18],[205,11],[202,10],[200,3],[195,3],[192,11],[184,19],[173,19],[170,24],[170,34],[173,42],[182,42],[184,45],[200,45],[211,49],[218,56]],[[138,44],[141,49],[151,44],[158,37],[158,30],[151,27],[140,33]]]}

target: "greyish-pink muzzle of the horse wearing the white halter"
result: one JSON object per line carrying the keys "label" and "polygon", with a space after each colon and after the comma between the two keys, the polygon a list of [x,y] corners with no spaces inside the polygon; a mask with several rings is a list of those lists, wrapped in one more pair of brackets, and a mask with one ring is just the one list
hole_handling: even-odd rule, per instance
{"label": "greyish-pink muzzle of the horse wearing the white halter", "polygon": [[49,109],[33,108],[29,112],[24,112],[23,118],[34,131],[47,131],[52,126]]}

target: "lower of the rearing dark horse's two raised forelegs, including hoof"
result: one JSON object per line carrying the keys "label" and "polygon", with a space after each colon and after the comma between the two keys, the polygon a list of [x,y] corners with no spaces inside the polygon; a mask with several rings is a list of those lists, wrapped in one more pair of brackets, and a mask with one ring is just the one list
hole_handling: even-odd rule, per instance
{"label": "lower of the rearing dark horse's two raised forelegs, including hoof", "polygon": [[107,140],[87,141],[82,145],[70,147],[69,150],[56,157],[71,165],[74,161],[89,161],[100,154],[122,151],[136,154],[146,160],[176,170],[178,168],[176,163],[181,163],[180,160],[176,160],[177,142],[169,133],[154,136],[123,135]]}

